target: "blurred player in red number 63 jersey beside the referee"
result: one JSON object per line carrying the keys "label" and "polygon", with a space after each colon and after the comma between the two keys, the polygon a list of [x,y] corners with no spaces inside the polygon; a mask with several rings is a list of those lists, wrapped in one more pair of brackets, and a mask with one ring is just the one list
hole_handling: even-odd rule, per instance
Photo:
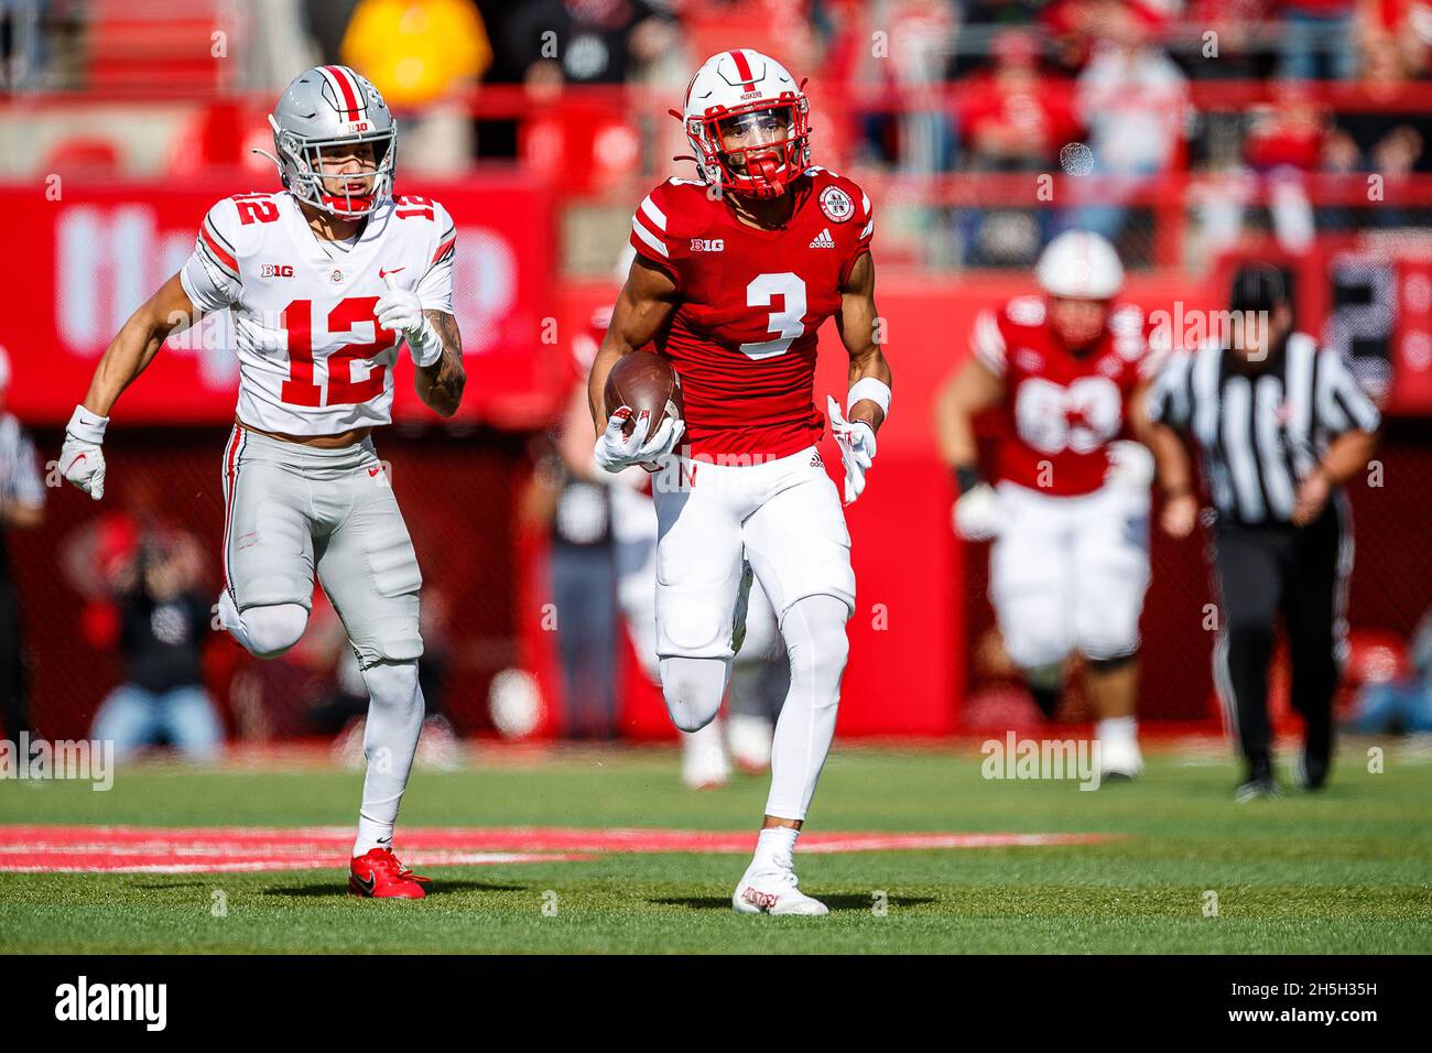
{"label": "blurred player in red number 63 jersey beside the referee", "polygon": [[[1153,457],[1124,434],[1157,372],[1143,312],[1114,307],[1124,269],[1104,238],[1068,231],[1040,256],[1042,297],[982,311],[974,355],[939,403],[939,443],[959,499],[954,526],[994,540],[990,599],[1010,659],[1045,716],[1073,652],[1087,665],[1106,776],[1143,772],[1134,709],[1138,616],[1148,587]],[[981,481],[971,417],[1001,407],[998,491]]]}

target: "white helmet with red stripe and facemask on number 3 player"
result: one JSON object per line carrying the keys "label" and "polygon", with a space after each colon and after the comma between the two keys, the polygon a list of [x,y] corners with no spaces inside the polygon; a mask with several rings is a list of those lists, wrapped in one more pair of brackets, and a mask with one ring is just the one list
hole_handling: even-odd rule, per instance
{"label": "white helmet with red stripe and facemask on number 3 player", "polygon": [[[680,116],[706,183],[778,198],[811,163],[811,102],[775,59],[749,47],[707,59]],[[676,110],[672,110],[676,113]]]}

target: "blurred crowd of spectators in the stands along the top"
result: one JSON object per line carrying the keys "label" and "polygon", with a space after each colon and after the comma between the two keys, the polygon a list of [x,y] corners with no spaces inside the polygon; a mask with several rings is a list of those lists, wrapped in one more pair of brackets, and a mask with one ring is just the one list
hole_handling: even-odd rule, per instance
{"label": "blurred crowd of spectators in the stands along the top", "polygon": [[[1297,251],[1316,229],[1409,221],[1323,206],[1310,179],[1336,201],[1339,178],[1432,172],[1432,106],[1413,95],[1428,0],[0,0],[0,17],[10,90],[263,97],[296,69],[344,62],[398,112],[410,173],[520,160],[576,196],[627,195],[669,170],[684,142],[653,95],[676,102],[712,52],[765,49],[811,76],[825,163],[904,181],[918,205],[886,226],[886,251],[902,254],[904,228],[908,255],[932,265],[1024,265],[1067,225],[1151,262],[1170,173],[1216,181],[1191,192],[1200,254],[1254,221]],[[183,50],[211,34],[180,26],[225,19],[236,62]],[[1209,93],[1230,82],[1247,90]],[[1329,99],[1310,82],[1346,90]],[[233,135],[242,120],[212,107],[170,166],[258,163]],[[52,163],[105,160],[90,139],[54,143]],[[1030,172],[1091,179],[1061,212],[990,206],[1022,185],[1001,178]]]}

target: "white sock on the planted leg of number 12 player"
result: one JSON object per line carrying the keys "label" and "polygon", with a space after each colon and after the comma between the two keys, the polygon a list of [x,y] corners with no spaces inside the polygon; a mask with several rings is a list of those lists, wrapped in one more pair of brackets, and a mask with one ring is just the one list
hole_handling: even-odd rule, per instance
{"label": "white sock on the planted leg of number 12 player", "polygon": [[355,857],[392,847],[392,827],[408,787],[424,713],[417,662],[382,662],[364,669],[362,679],[368,685],[368,721],[362,736],[368,774],[358,809]]}

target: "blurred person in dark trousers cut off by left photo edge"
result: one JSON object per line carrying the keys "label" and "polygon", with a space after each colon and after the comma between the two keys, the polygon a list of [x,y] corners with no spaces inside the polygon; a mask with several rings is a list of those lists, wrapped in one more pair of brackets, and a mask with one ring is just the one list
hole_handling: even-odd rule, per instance
{"label": "blurred person in dark trousers cut off by left photo edge", "polygon": [[24,678],[20,593],[6,549],[11,530],[34,530],[44,521],[44,483],[34,443],[6,410],[10,355],[0,347],[0,726],[11,741],[33,732]]}

